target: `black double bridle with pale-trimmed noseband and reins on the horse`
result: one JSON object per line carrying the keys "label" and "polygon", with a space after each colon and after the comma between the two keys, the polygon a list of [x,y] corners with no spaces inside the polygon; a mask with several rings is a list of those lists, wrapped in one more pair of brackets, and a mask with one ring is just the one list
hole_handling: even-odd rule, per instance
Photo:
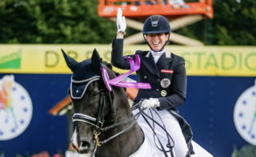
{"label": "black double bridle with pale-trimmed noseband and reins on the horse", "polygon": [[[110,104],[111,104],[111,110],[113,112],[115,112],[115,108],[113,106],[113,102],[110,96],[110,92],[108,92],[108,96],[110,98]],[[123,120],[122,122],[119,122],[117,124],[113,124],[109,127],[105,127],[103,128],[103,124],[104,124],[104,108],[106,105],[105,102],[105,95],[106,95],[106,89],[101,89],[100,90],[100,100],[99,100],[99,108],[98,108],[98,116],[96,118],[92,117],[92,116],[87,116],[85,114],[82,113],[74,113],[74,115],[72,116],[72,120],[74,121],[80,121],[80,122],[84,122],[86,124],[90,124],[94,126],[94,139],[96,141],[96,144],[98,147],[101,147],[102,144],[107,143],[108,141],[110,141],[110,139],[114,139],[114,137],[121,135],[123,132],[128,131],[131,127],[134,126],[134,124],[136,123],[136,121],[138,120],[138,116],[140,116],[140,114],[144,111],[141,110],[140,112],[136,113],[134,116],[131,116],[129,119],[127,120]],[[135,120],[134,120],[135,119]],[[131,120],[134,120],[134,122],[132,124],[130,124],[130,126],[120,132],[118,132],[115,135],[112,135],[110,138],[105,139],[104,141],[99,141],[98,139],[98,135],[100,135],[103,131],[109,131],[112,128],[116,128],[122,124],[126,124],[128,122],[130,122]]]}

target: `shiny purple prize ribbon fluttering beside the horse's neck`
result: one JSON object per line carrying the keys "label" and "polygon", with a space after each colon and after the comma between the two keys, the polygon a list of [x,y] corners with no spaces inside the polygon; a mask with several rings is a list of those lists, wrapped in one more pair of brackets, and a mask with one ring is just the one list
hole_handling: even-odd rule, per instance
{"label": "shiny purple prize ribbon fluttering beside the horse's neck", "polygon": [[128,77],[131,73],[136,72],[140,68],[141,60],[138,54],[135,55],[135,65],[134,60],[131,57],[126,57],[126,59],[130,63],[130,71],[128,73],[122,74],[119,77],[115,77],[114,79],[110,80],[106,69],[102,69],[102,77],[106,84],[106,88],[111,92],[112,88],[111,85],[118,86],[118,87],[129,87],[129,88],[151,88],[150,84],[148,83],[134,83],[134,82],[125,82],[122,79]]}

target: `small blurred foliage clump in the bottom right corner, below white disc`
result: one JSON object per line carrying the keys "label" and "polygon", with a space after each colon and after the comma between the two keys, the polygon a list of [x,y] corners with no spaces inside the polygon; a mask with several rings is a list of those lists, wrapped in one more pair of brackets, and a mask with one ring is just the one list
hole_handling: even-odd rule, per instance
{"label": "small blurred foliage clump in the bottom right corner, below white disc", "polygon": [[253,145],[245,145],[240,151],[237,150],[237,147],[234,146],[234,150],[232,152],[232,157],[255,157],[256,156],[256,146]]}

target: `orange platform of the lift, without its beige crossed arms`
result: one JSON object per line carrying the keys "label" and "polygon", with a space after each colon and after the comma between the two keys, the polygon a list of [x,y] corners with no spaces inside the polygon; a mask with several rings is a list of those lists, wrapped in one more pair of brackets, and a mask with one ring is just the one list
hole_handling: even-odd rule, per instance
{"label": "orange platform of the lift, without its beige crossed arms", "polygon": [[122,9],[123,16],[133,19],[146,19],[153,14],[169,19],[190,14],[213,18],[212,0],[185,2],[182,5],[171,4],[170,0],[99,0],[98,15],[104,18],[116,17],[118,8]]}

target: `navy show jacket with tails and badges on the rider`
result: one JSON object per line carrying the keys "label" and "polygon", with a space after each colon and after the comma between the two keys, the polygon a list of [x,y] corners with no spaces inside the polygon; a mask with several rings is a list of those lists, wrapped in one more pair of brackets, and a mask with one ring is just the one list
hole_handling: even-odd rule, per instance
{"label": "navy show jacket with tails and badges on the rider", "polygon": [[[118,69],[130,69],[130,63],[122,57],[123,39],[114,38],[112,41],[111,63]],[[185,60],[174,53],[166,52],[158,59],[155,64],[154,57],[150,51],[139,51],[141,60],[140,69],[138,69],[138,82],[150,83],[150,89],[138,89],[138,95],[134,99],[137,104],[141,99],[158,98],[160,107],[158,110],[168,110],[173,115],[182,129],[182,133],[186,139],[187,147],[191,155],[194,155],[192,146],[193,132],[190,124],[178,115],[176,107],[184,104],[186,100],[186,69]],[[135,60],[135,55],[129,55]],[[173,73],[162,73],[162,70],[172,71]],[[167,88],[161,86],[162,79],[169,79],[170,85]],[[166,91],[166,96],[162,96],[161,92]]]}

